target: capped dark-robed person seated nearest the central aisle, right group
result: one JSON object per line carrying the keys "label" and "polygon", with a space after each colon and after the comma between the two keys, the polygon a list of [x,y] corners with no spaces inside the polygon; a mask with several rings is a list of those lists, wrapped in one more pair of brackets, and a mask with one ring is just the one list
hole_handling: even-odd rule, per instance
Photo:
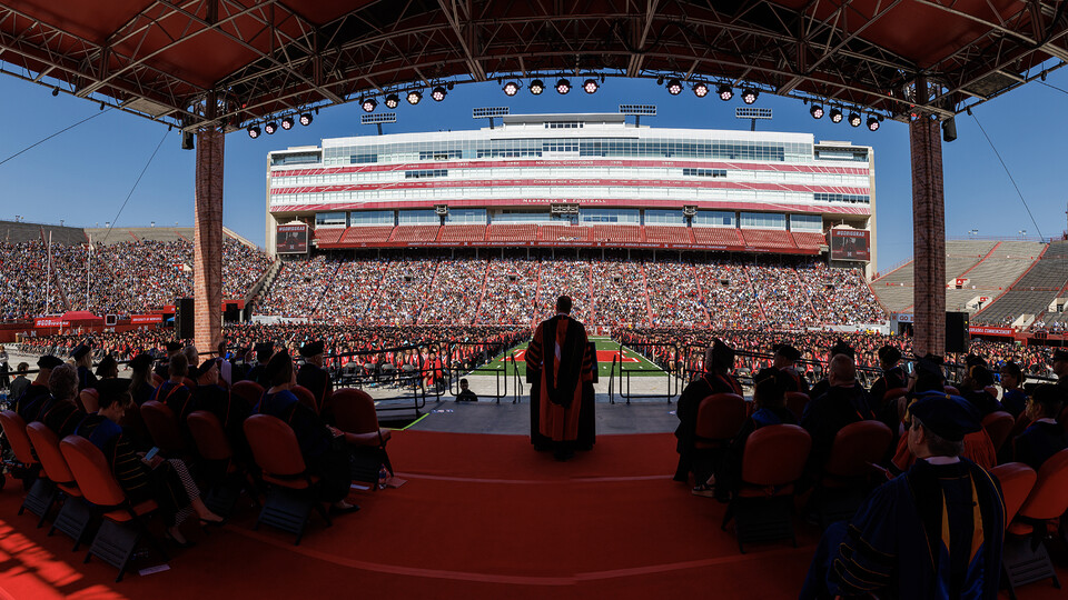
{"label": "capped dark-robed person seated nearest the central aisle, right group", "polygon": [[704,373],[694,377],[690,384],[679,396],[675,416],[679,417],[679,427],[675,428],[675,451],[679,452],[679,464],[675,468],[675,481],[689,482],[690,473],[694,476],[696,487],[694,491],[706,491],[706,481],[712,476],[709,466],[694,461],[694,444],[696,443],[698,408],[701,401],[714,393],[735,393],[742,396],[742,386],[731,374],[734,368],[734,349],[720,340],[715,340],[704,353]]}

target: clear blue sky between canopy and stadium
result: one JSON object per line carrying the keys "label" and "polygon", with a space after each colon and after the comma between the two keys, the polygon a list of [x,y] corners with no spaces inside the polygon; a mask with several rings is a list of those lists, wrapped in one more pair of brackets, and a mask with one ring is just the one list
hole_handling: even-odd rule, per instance
{"label": "clear blue sky between canopy and stadium", "polygon": [[[577,81],[573,81],[577,83]],[[1068,69],[1050,74],[1050,86],[1068,90]],[[427,97],[416,107],[397,109],[387,133],[438,129],[473,129],[484,120],[471,118],[474,107],[510,107],[513,113],[617,111],[621,102],[653,103],[659,116],[643,120],[653,127],[746,129],[734,119],[741,101],[699,99],[689,90],[672,97],[652,80],[610,78],[589,96],[578,89],[567,96],[552,90],[538,97],[525,89],[513,98],[496,82],[456,86],[444,102]],[[884,121],[878,132],[864,126],[815,121],[800,101],[763,94],[758,107],[774,110],[774,120],[761,130],[811,132],[817,140],[847,140],[871,146],[876,152],[879,268],[912,256],[909,132],[904,123]],[[1068,202],[1068,93],[1039,82],[1025,86],[957,119],[958,140],[945,143],[946,232],[948,237],[1018,238],[1020,230],[1036,236],[1036,227],[976,119],[982,123],[1027,200],[1046,237],[1066,229]],[[379,111],[384,107],[379,107]],[[162,140],[140,183],[116,221],[125,227],[192,224],[195,152],[180,149],[177,131],[99,104],[14,78],[0,78],[0,113],[8,114],[0,134],[0,160],[26,147],[98,114],[23,154],[0,164],[0,219],[22,216],[30,222],[95,227],[112,221],[130,194],[138,174]],[[224,220],[227,227],[258,244],[264,243],[267,152],[290,146],[318,144],[323,138],[373,136],[374,126],[360,126],[357,103],[324,109],[310,127],[249,139],[235,132],[226,139]]]}

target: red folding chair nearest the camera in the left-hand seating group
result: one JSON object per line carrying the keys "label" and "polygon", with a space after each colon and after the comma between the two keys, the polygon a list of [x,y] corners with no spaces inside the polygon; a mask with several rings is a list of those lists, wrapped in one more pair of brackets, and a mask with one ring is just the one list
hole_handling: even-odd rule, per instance
{"label": "red folding chair nearest the camera in the left-hand seating group", "polygon": [[142,517],[158,509],[155,500],[146,500],[131,504],[126,492],[119,487],[103,452],[86,438],[67,436],[59,442],[59,449],[70,466],[70,472],[78,482],[78,488],[86,500],[93,504],[95,510],[101,513],[103,522],[97,531],[86,562],[97,557],[119,570],[116,583],[122,581],[134,550],[142,539],[147,539],[152,548],[169,560],[167,552],[159,546],[156,538],[149,533]]}

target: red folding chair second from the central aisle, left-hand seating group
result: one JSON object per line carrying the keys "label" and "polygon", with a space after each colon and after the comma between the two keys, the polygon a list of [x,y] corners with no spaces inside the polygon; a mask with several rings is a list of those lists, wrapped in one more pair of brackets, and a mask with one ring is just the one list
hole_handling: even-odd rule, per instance
{"label": "red folding chair second from the central aisle, left-hand seating group", "polygon": [[265,523],[295,533],[293,543],[297,546],[313,509],[327,526],[333,524],[323,504],[312,497],[310,489],[319,478],[308,472],[293,429],[269,414],[253,414],[245,419],[244,428],[261,477],[270,486],[253,529]]}

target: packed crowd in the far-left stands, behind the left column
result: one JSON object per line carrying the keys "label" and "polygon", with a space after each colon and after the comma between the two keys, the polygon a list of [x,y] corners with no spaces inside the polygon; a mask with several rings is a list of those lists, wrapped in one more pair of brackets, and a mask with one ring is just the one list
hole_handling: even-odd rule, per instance
{"label": "packed crowd in the far-left stands, behind the left column", "polygon": [[[170,306],[192,296],[192,263],[188,241],[95,244],[91,257],[88,244],[52,244],[51,267],[44,242],[0,242],[0,318],[67,310],[134,314]],[[222,297],[245,298],[270,263],[266,253],[225,239]]]}

